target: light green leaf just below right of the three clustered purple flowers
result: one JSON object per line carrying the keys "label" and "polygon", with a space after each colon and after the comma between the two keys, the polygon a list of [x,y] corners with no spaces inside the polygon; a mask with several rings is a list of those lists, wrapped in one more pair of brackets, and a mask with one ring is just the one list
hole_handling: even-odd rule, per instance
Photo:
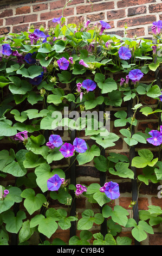
{"label": "light green leaf just below right of the three clustered purple flowers", "polygon": [[100,149],[96,145],[92,145],[89,149],[87,145],[87,150],[85,153],[79,153],[76,157],[76,160],[79,162],[79,165],[88,163],[94,159],[94,156],[100,155]]}

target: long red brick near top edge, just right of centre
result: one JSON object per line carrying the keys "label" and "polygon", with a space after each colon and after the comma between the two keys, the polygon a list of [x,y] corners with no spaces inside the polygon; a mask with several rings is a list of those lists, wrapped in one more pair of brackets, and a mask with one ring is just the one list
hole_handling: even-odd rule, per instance
{"label": "long red brick near top edge, just right of centre", "polygon": [[83,6],[81,5],[76,7],[76,13],[77,14],[92,13],[93,11],[103,11],[103,10],[110,10],[110,9],[114,9],[114,2],[93,4],[93,9],[92,9],[92,4],[83,5]]}

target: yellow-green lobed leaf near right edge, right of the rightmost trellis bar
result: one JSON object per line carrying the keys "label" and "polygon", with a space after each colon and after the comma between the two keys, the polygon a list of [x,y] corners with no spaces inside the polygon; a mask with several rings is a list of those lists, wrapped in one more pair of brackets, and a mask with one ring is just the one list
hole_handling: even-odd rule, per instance
{"label": "yellow-green lobed leaf near right edge, right of the rightmost trellis bar", "polygon": [[144,168],[147,165],[152,167],[158,161],[158,158],[153,159],[153,154],[149,149],[138,150],[138,154],[139,156],[132,159],[132,166],[134,167]]}

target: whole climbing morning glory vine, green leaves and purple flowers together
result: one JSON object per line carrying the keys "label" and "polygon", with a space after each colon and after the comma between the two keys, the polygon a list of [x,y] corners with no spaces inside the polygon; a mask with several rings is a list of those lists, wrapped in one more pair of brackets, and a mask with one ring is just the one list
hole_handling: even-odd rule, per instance
{"label": "whole climbing morning glory vine, green leaves and purple flowers together", "polygon": [[[134,179],[131,167],[136,167],[143,172],[138,175],[139,186],[162,179],[162,94],[156,80],[150,84],[141,82],[148,72],[160,68],[162,22],[153,23],[154,41],[127,38],[126,33],[124,38],[108,34],[110,25],[104,21],[91,25],[90,21],[80,20],[66,25],[61,16],[53,22],[49,31],[42,26],[30,27],[29,32],[10,33],[0,39],[0,136],[1,145],[10,144],[9,150],[0,151],[0,244],[10,245],[11,234],[18,234],[19,244],[28,245],[30,237],[38,233],[47,237],[43,244],[48,245],[48,239],[58,228],[69,229],[74,221],[77,230],[81,230],[80,237],[71,237],[69,245],[90,245],[92,238],[93,245],[131,245],[132,239],[118,235],[122,227],[132,228],[134,239],[143,241],[147,233],[153,234],[152,226],[162,222],[161,208],[150,205],[148,210],[139,211],[139,223],[120,205],[112,209],[108,203],[120,197],[120,187],[109,176]],[[121,79],[112,78],[115,74],[120,74]],[[146,97],[157,100],[157,105],[147,106]],[[105,111],[102,121],[93,118],[92,126],[82,113],[94,109],[99,113],[103,104],[105,108],[120,108],[131,99],[135,102],[132,117],[127,117],[124,110],[116,111],[114,126],[121,127],[120,134],[129,148],[142,143],[143,149],[132,162],[122,154],[102,155],[101,149],[108,152],[120,137],[107,129],[108,112]],[[76,111],[77,118],[59,115],[64,107],[69,112]],[[154,114],[159,119],[157,130],[132,134],[139,109],[144,117]],[[62,138],[60,130],[70,135],[74,129],[77,136],[73,143]],[[82,130],[85,137],[94,140],[91,147],[80,138]],[[146,143],[154,145],[159,157],[145,149]],[[70,184],[66,171],[71,157],[79,166],[93,161],[94,168],[107,175],[105,185]],[[69,167],[57,168],[55,163],[60,160],[66,160]],[[15,185],[10,185],[9,181],[14,179]],[[80,218],[77,213],[71,216],[73,191],[75,197],[86,197],[92,205],[101,206],[102,211],[94,214],[92,208],[83,211]],[[62,208],[50,206],[52,200],[58,200]],[[130,209],[137,202],[132,202]],[[15,204],[19,205],[16,215]],[[93,224],[101,225],[104,218],[106,236],[92,234]],[[65,243],[54,239],[51,244]]]}

